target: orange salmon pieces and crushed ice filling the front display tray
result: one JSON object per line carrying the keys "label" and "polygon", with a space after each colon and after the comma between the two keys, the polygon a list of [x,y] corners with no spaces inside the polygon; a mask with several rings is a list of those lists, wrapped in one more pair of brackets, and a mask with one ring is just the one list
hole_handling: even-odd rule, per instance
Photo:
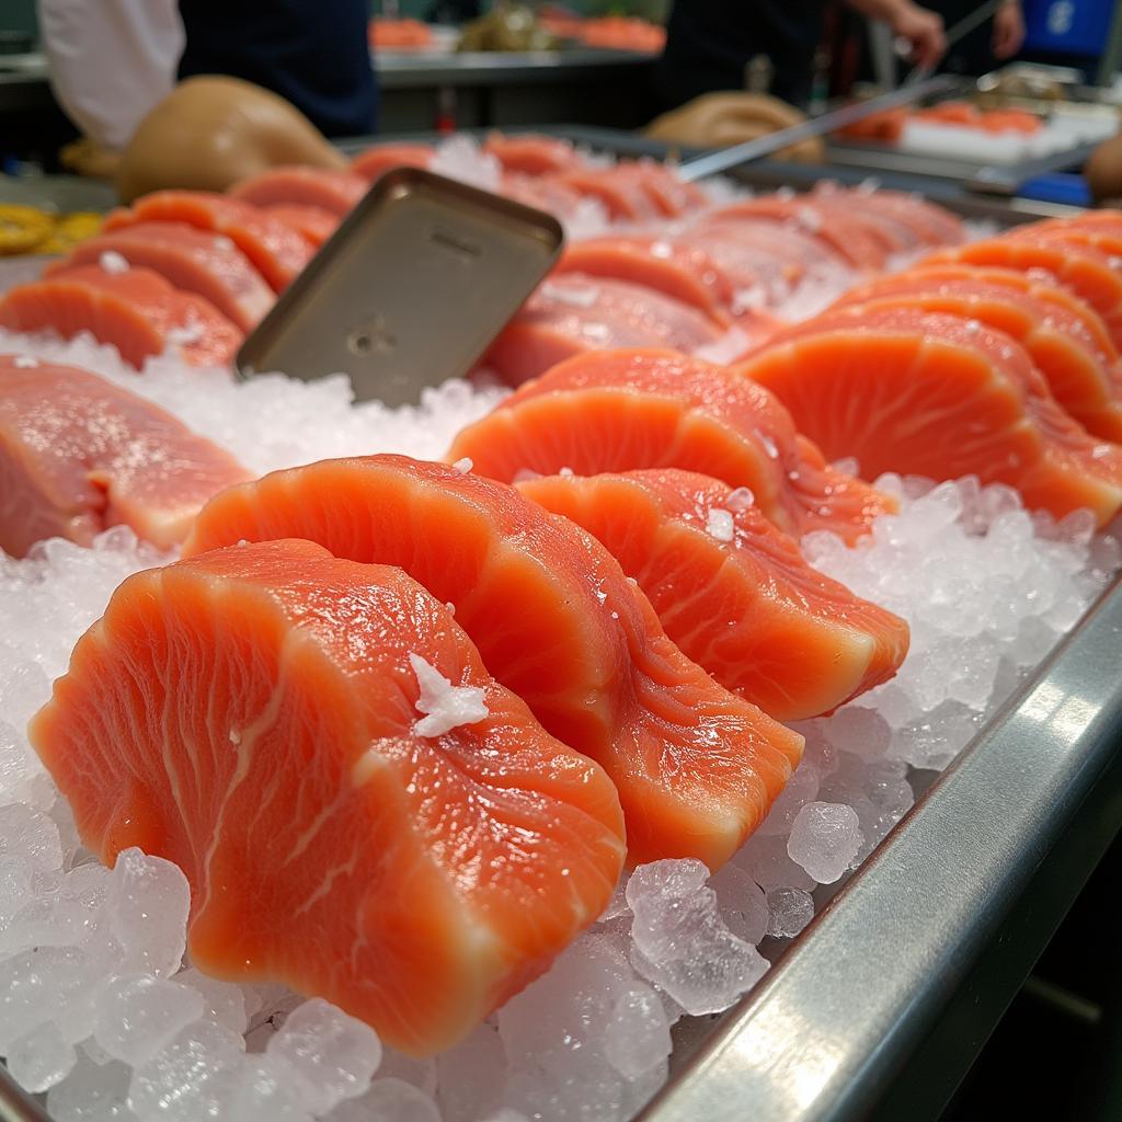
{"label": "orange salmon pieces and crushed ice filling the front display tray", "polygon": [[[236,381],[119,249],[0,298],[0,1055],[57,1122],[626,1122],[1119,569],[1118,215],[486,148],[394,159],[565,222],[513,394]],[[368,182],[107,236],[272,294]]]}

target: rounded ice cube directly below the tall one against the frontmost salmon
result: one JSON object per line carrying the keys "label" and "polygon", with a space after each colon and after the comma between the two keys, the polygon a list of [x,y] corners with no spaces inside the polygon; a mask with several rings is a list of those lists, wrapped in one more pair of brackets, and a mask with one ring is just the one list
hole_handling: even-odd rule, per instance
{"label": "rounded ice cube directly below the tall one against the frontmost salmon", "polygon": [[169,1045],[203,1014],[202,995],[151,974],[113,978],[96,1001],[93,1038],[134,1067]]}

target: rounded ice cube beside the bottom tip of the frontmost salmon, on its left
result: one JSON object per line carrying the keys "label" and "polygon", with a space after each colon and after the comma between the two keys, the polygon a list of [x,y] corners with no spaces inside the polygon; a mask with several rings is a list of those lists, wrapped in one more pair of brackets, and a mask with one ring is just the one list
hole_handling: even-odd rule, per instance
{"label": "rounded ice cube beside the bottom tip of the frontmost salmon, on its left", "polygon": [[304,1107],[325,1114],[366,1091],[381,1060],[381,1045],[370,1026],[313,997],[293,1010],[266,1054],[292,1067]]}

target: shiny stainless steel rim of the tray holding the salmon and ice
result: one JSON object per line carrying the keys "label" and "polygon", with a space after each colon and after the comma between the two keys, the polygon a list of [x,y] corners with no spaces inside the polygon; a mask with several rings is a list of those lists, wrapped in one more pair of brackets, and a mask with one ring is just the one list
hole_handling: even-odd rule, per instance
{"label": "shiny stainless steel rim of the tray holding the salmon and ice", "polygon": [[[618,155],[668,155],[632,134],[532,131]],[[761,188],[824,176],[864,177],[773,162],[737,173]],[[883,178],[930,187],[959,214],[1002,226],[1070,210],[972,199],[945,181]],[[671,1078],[640,1122],[936,1119],[1122,829],[1120,654],[1122,580],[765,978],[719,1018],[675,1027]],[[0,1122],[49,1122],[6,1073]]]}

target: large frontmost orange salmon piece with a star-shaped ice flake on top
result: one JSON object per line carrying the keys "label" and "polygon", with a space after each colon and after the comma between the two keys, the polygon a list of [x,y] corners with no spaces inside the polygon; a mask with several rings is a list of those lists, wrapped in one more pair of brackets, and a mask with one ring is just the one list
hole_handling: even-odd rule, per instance
{"label": "large frontmost orange salmon piece with a star-shaped ice flake on top", "polygon": [[[426,726],[421,674],[473,711]],[[608,778],[451,613],[312,542],[129,577],[30,735],[104,862],[183,868],[195,966],[323,996],[416,1055],[541,973],[623,864]]]}

